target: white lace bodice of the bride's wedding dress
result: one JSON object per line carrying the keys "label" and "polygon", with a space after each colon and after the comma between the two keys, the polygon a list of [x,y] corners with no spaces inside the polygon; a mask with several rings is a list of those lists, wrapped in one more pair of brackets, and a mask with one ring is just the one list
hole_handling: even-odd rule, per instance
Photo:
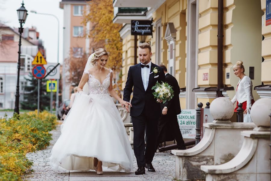
{"label": "white lace bodice of the bride's wedding dress", "polygon": [[89,78],[87,81],[88,88],[89,88],[89,95],[94,95],[98,97],[105,97],[109,96],[108,94],[108,87],[110,85],[110,73],[113,72],[109,69],[109,73],[106,75],[106,78],[102,81],[102,83],[95,78],[95,76],[91,75],[90,72],[84,71],[84,74],[88,74]]}

